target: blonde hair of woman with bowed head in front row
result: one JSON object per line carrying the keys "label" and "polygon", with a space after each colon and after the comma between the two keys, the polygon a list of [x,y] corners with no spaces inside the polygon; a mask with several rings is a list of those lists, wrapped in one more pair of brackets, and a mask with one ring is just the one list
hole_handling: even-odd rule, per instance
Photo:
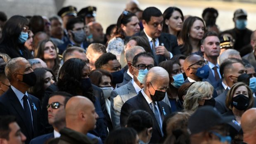
{"label": "blonde hair of woman with bowed head in front row", "polygon": [[198,101],[213,94],[213,86],[208,82],[195,82],[187,90],[184,98],[183,107],[185,110],[195,111],[199,104]]}

